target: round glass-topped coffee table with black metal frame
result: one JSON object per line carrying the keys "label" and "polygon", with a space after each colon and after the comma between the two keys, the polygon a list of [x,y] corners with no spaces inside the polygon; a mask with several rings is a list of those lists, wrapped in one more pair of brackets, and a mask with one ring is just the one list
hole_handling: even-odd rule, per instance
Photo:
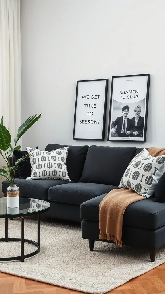
{"label": "round glass-topped coffee table with black metal frame", "polygon": [[[50,203],[40,199],[20,197],[19,207],[7,207],[6,197],[0,197],[0,218],[5,218],[5,238],[0,241],[19,241],[21,242],[20,256],[0,258],[0,261],[21,260],[36,255],[40,251],[40,214],[50,208]],[[24,239],[24,217],[37,215],[37,242]],[[8,237],[8,218],[21,218],[21,238]],[[29,243],[37,247],[35,251],[24,255],[24,243]]]}

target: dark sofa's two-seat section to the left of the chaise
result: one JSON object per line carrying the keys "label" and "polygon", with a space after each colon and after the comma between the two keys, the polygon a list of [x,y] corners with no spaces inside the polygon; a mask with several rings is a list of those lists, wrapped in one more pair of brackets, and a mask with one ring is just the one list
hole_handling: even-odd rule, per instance
{"label": "dark sofa's two-seat section to the left of the chaise", "polygon": [[[48,144],[45,150],[52,151],[64,146],[68,145]],[[88,150],[90,151],[89,154]],[[97,150],[98,153],[97,164],[95,165],[95,157],[92,158],[91,156],[93,150]],[[20,196],[33,197],[50,202],[50,209],[45,213],[45,216],[81,222],[80,204],[117,188],[120,178],[134,157],[136,150],[137,148],[70,146],[66,164],[71,182],[68,183],[62,180],[34,181],[15,178],[15,183],[20,188]],[[87,166],[86,170],[84,170],[86,157],[90,157],[94,163],[90,163],[90,167]],[[107,163],[108,166],[106,167]],[[117,168],[115,173],[114,171],[111,173],[111,179],[109,179],[109,173],[110,170],[113,170],[114,164],[117,165]],[[95,172],[93,181],[88,181],[89,168],[92,168]],[[16,176],[18,177],[18,174]],[[116,176],[118,177],[117,181]],[[8,181],[2,183],[4,196],[8,186]]]}

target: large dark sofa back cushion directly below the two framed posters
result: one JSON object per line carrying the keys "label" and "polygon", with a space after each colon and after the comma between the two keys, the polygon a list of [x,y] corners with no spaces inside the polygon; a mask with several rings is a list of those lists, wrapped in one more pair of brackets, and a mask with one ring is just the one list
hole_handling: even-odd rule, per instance
{"label": "large dark sofa back cushion directly below the two framed posters", "polygon": [[119,186],[124,171],[135,156],[136,149],[90,146],[80,182]]}

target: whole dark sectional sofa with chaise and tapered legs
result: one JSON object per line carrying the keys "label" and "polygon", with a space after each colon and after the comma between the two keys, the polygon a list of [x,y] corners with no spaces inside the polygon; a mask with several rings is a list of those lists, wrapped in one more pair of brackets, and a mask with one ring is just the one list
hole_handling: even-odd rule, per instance
{"label": "whole dark sectional sofa with chaise and tapered legs", "polygon": [[[69,145],[48,144],[46,151]],[[62,180],[28,180],[18,178],[20,196],[50,202],[45,216],[82,221],[82,237],[93,250],[99,240],[99,204],[112,189],[117,189],[132,158],[142,151],[136,147],[70,146],[66,160],[71,182]],[[29,175],[30,176],[30,175]],[[8,181],[2,183],[6,196]],[[165,203],[154,202],[154,196],[130,204],[123,216],[123,245],[146,248],[151,261],[156,249],[165,245]]]}

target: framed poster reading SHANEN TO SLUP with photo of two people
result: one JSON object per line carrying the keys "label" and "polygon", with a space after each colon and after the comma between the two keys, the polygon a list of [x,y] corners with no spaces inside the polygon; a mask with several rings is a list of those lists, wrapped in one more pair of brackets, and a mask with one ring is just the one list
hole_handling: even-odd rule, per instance
{"label": "framed poster reading SHANEN TO SLUP with photo of two people", "polygon": [[112,76],[108,141],[146,142],[150,74]]}

